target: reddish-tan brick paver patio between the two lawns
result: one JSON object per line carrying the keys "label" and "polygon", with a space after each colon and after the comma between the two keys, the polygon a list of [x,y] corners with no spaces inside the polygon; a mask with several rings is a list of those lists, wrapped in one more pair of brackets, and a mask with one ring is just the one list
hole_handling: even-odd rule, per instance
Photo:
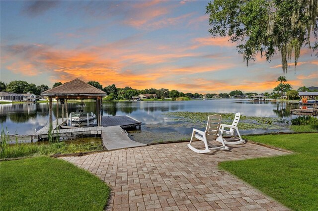
{"label": "reddish-tan brick paver patio between the two lawns", "polygon": [[63,159],[110,185],[107,210],[289,210],[217,167],[225,160],[288,153],[247,143],[231,147],[230,152],[197,154],[186,144],[151,145]]}

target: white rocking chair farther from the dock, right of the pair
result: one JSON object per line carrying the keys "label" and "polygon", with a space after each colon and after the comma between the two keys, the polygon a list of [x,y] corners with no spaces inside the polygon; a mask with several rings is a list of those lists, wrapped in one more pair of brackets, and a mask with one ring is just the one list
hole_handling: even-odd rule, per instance
{"label": "white rocking chair farther from the dock, right of the pair", "polygon": [[[228,124],[221,124],[220,126],[220,133],[223,135],[223,133],[227,134],[227,135],[231,135],[231,138],[223,138],[222,136],[219,136],[219,138],[217,139],[217,141],[221,142],[221,143],[225,143],[227,145],[236,145],[236,144],[241,144],[244,143],[245,141],[242,139],[242,137],[239,134],[239,129],[238,129],[238,124],[239,124],[239,118],[240,118],[240,113],[236,113],[235,114],[235,118],[233,120],[232,125],[228,125]],[[225,128],[230,128],[230,130],[225,130]],[[236,135],[234,134],[234,132],[236,131]],[[238,136],[239,136],[239,140],[238,140]],[[221,138],[223,140],[221,140]],[[238,140],[238,141],[235,141]]]}

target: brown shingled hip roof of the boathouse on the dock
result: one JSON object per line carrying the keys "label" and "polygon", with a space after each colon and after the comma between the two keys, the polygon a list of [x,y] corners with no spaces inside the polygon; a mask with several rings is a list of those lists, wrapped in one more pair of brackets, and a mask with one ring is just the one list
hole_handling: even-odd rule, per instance
{"label": "brown shingled hip roof of the boathouse on the dock", "polygon": [[64,97],[88,97],[88,96],[106,96],[107,94],[82,80],[74,79],[60,86],[42,92],[42,96],[64,96]]}

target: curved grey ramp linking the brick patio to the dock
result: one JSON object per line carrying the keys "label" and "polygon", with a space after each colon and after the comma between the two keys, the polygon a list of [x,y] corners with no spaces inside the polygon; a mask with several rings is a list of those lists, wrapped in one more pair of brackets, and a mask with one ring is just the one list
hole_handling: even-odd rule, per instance
{"label": "curved grey ramp linking the brick patio to the dock", "polygon": [[146,144],[131,140],[125,132],[121,133],[122,130],[119,125],[102,127],[101,137],[103,145],[107,150],[147,146]]}

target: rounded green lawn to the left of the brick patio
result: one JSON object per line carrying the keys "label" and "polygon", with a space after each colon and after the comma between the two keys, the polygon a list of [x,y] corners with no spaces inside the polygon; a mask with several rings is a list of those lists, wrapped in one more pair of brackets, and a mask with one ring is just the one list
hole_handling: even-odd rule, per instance
{"label": "rounded green lawn to the left of the brick patio", "polygon": [[102,211],[109,187],[96,176],[54,158],[0,162],[0,210]]}

